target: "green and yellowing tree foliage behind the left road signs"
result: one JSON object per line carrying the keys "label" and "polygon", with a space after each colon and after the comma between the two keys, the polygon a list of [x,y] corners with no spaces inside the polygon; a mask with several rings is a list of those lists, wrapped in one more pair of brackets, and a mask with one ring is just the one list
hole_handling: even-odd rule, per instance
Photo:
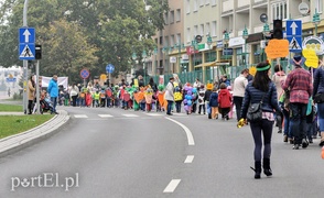
{"label": "green and yellowing tree foliage behind the left road signs", "polygon": [[[147,4],[145,4],[147,3]],[[164,26],[168,0],[29,0],[28,24],[36,30],[42,45],[41,74],[67,75],[73,80],[79,70],[128,72],[132,53],[141,58],[155,43],[151,36]],[[0,8],[0,65],[21,65],[18,59],[18,29],[22,26],[24,0],[4,0]],[[147,6],[147,7],[145,7]],[[148,9],[149,8],[149,9]]]}

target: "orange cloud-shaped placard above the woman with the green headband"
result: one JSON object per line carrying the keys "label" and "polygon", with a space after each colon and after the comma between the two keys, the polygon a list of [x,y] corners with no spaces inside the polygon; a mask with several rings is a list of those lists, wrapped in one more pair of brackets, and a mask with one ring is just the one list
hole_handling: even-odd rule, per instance
{"label": "orange cloud-shaped placard above the woman with the green headband", "polygon": [[289,55],[288,40],[270,40],[266,47],[266,53],[269,58],[285,57]]}

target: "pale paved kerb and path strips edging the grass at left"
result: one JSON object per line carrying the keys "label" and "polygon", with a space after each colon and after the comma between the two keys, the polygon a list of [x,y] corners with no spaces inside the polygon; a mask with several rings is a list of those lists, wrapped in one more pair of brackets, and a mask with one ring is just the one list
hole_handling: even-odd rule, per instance
{"label": "pale paved kerb and path strips edging the grass at left", "polygon": [[[60,132],[60,128],[69,120],[69,116],[65,110],[57,110],[57,112],[58,114],[54,116],[54,118],[34,129],[1,139],[0,157],[33,145],[34,143],[55,134],[55,132]],[[0,112],[0,116],[2,114],[23,116],[24,113]]]}

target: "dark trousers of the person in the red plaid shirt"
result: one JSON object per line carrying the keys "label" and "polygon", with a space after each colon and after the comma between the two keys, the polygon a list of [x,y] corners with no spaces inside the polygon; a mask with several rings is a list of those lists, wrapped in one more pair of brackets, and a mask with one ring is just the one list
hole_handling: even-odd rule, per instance
{"label": "dark trousers of the person in the red plaid shirt", "polygon": [[289,105],[291,111],[291,131],[294,136],[294,144],[301,144],[302,140],[306,138],[306,103],[291,102]]}

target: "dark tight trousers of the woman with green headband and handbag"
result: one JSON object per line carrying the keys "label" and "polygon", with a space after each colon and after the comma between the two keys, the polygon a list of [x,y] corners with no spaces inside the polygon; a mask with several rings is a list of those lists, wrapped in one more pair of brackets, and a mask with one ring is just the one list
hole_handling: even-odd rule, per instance
{"label": "dark tight trousers of the woman with green headband and handbag", "polygon": [[261,122],[250,122],[250,128],[255,141],[255,161],[262,160],[262,136],[263,136],[263,158],[270,158],[271,155],[271,138],[273,121],[262,119]]}

